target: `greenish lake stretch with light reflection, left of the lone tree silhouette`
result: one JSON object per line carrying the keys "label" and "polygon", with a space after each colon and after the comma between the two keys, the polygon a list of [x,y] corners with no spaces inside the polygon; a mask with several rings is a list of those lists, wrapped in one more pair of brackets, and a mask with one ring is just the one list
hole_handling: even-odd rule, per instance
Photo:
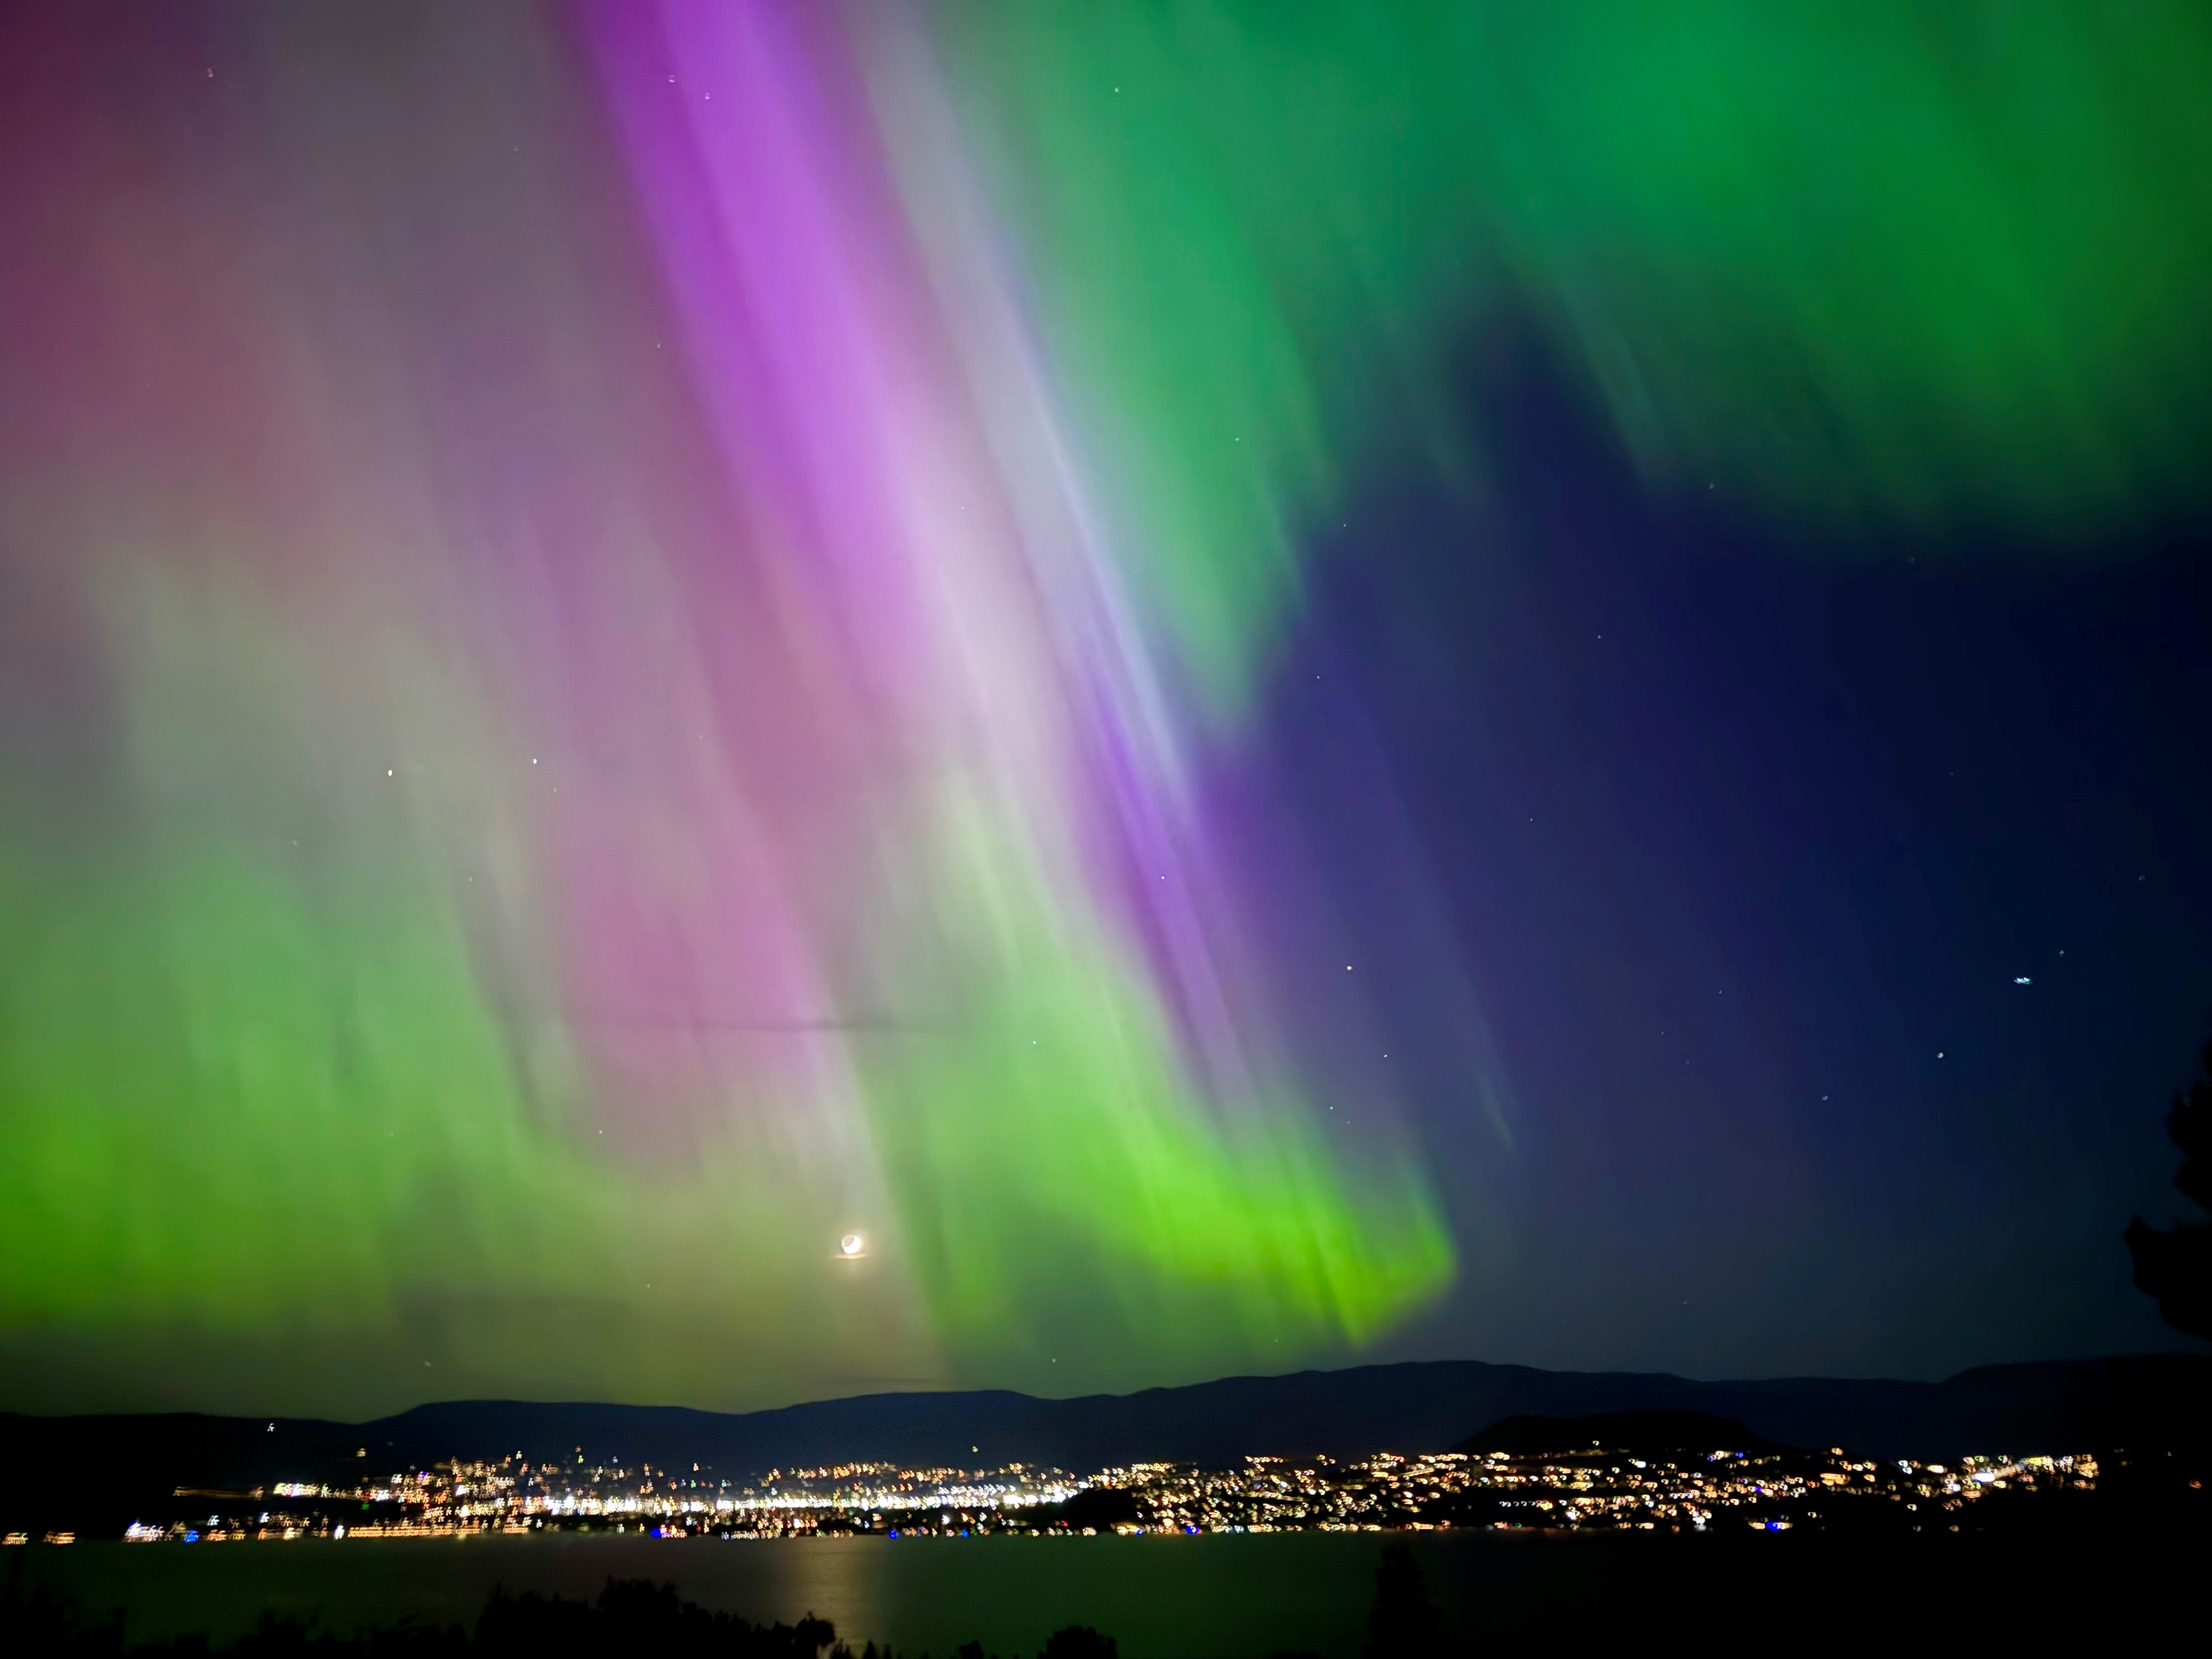
{"label": "greenish lake stretch with light reflection, left of the lone tree silhouette", "polygon": [[748,1619],[818,1613],[841,1635],[947,1655],[980,1639],[1035,1652],[1064,1624],[1128,1659],[1356,1652],[1378,1537],[670,1540],[462,1537],[296,1544],[77,1544],[35,1551],[86,1613],[122,1606],[133,1639],[226,1639],[263,1608],[327,1628],[400,1615],[473,1624],[493,1584],[595,1595],[608,1577],[675,1579]]}

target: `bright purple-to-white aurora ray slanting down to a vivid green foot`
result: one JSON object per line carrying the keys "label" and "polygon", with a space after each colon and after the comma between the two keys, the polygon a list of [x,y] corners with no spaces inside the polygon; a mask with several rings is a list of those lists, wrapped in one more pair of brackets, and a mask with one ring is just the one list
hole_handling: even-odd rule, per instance
{"label": "bright purple-to-white aurora ray slanting down to a vivid green foot", "polygon": [[1148,973],[1097,869],[1104,836],[1119,865],[1141,847],[1172,867],[1172,891],[1194,880],[1157,836],[1128,845],[1172,812],[1172,770],[1130,743],[1144,664],[1110,628],[1075,482],[1046,471],[1037,500],[1037,473],[1004,467],[1029,422],[993,431],[993,374],[1035,372],[1004,316],[1013,361],[991,363],[991,321],[956,316],[993,310],[995,272],[927,281],[843,42],[774,9],[639,15],[595,44],[723,471],[807,526],[770,531],[776,586],[865,657],[845,684],[883,757],[874,874],[803,933],[860,962],[825,980],[838,1006],[900,1011],[849,1048],[936,1327],[1006,1358],[1048,1329],[1086,1371],[1133,1327],[1254,1347],[1374,1329],[1449,1263],[1418,1186],[1385,1166],[1365,1201],[1345,1192],[1310,1106],[1263,1099],[1243,1033],[1177,995],[1221,978],[1219,951]]}

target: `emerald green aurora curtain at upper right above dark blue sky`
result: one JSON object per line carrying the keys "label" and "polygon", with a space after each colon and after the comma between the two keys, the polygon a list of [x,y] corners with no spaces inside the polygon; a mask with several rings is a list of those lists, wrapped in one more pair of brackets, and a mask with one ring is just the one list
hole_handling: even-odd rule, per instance
{"label": "emerald green aurora curtain at upper right above dark blue sky", "polygon": [[[1659,487],[2068,540],[2199,498],[2192,4],[947,9],[1104,493],[1214,708],[1376,434],[1555,332]],[[896,146],[894,146],[896,153]]]}

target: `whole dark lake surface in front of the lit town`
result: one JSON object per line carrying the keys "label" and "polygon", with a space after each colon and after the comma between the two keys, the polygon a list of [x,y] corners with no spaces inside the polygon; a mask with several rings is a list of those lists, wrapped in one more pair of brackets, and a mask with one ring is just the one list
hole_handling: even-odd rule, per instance
{"label": "whole dark lake surface in front of the lit town", "polygon": [[[1356,1655],[1383,1537],[1272,1533],[1206,1537],[670,1540],[465,1537],[292,1544],[31,1546],[24,1568],[88,1613],[124,1608],[133,1639],[204,1630],[228,1639],[272,1608],[352,1630],[414,1615],[471,1624],[493,1584],[588,1597],[608,1577],[672,1579],[692,1601],[748,1619],[818,1613],[858,1648],[945,1659],[962,1641],[1033,1655],[1066,1624],[1091,1624],[1124,1659],[1261,1659],[1279,1650]],[[2115,1546],[2119,1540],[2115,1540]],[[1462,1644],[1515,1646],[1599,1632],[1763,1639],[1834,1637],[1838,1606],[1880,1608],[1878,1628],[1933,1641],[1942,1606],[2026,1617],[2051,1635],[2073,1613],[2110,1639],[2152,1608],[2115,1608],[2110,1562],[2081,1540],[1973,1537],[1880,1546],[1818,1535],[1668,1537],[1422,1533],[1416,1555]],[[2146,1553],[2148,1551],[2148,1553]],[[2152,1590],[2154,1540],[2126,1544]],[[18,1555],[18,1551],[9,1551]],[[13,1562],[9,1564],[13,1566]],[[1829,1608],[1829,1610],[1823,1610]],[[1920,1608],[1929,1608],[1927,1615]],[[1827,1646],[1814,1641],[1812,1646]],[[1918,1646],[1909,1641],[1909,1646]]]}

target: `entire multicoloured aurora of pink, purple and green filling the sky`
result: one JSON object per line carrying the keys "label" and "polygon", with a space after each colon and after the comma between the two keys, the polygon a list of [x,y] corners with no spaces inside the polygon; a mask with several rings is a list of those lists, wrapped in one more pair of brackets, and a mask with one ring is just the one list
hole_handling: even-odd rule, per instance
{"label": "entire multicoloured aurora of pink, purple and green filling the sky", "polygon": [[[1564,1214],[1495,951],[1582,922],[1484,925],[1522,878],[1440,779],[1606,787],[1436,739],[1566,661],[1493,675],[1551,462],[1471,365],[1772,582],[2157,564],[2203,507],[2185,4],[4,29],[0,1405],[1460,1340]],[[1770,1082],[1661,1139],[1756,1119],[1787,1194],[1820,1086]]]}

